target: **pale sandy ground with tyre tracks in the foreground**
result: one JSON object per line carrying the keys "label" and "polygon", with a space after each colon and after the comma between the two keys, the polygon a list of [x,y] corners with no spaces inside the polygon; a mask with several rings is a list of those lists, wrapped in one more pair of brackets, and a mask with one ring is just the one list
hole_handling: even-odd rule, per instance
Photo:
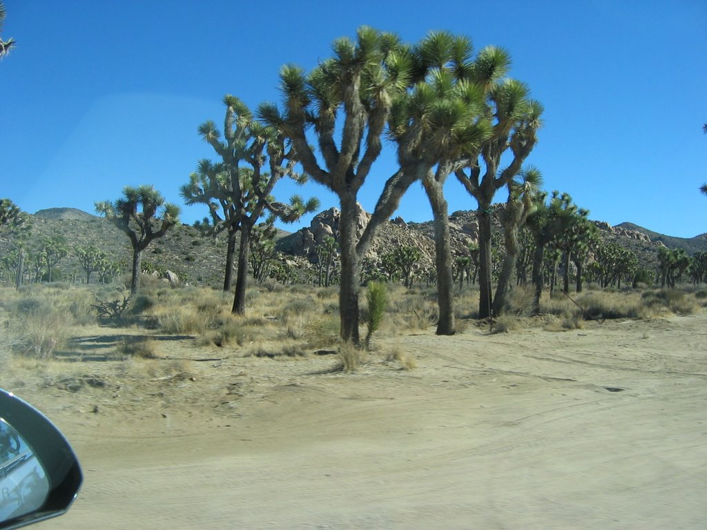
{"label": "pale sandy ground with tyre tracks in the foreground", "polygon": [[[169,337],[182,361],[159,363],[194,380],[62,363],[78,389],[59,372],[16,389],[85,472],[42,528],[703,529],[706,324],[431,330],[378,341],[414,370],[374,354],[353,375],[323,372],[331,356],[218,360]],[[80,340],[100,351],[95,333]]]}

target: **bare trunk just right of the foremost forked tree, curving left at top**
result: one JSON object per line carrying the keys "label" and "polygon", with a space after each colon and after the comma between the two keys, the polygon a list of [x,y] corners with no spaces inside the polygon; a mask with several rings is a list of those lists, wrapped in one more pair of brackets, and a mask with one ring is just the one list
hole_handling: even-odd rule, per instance
{"label": "bare trunk just right of the foremost forked tree, curving left at top", "polygon": [[452,288],[454,286],[454,277],[452,276],[449,216],[447,213],[447,201],[445,201],[443,193],[444,182],[438,182],[433,177],[425,177],[423,184],[432,206],[435,229],[435,265],[437,268],[437,303],[439,307],[436,334],[453,335]]}

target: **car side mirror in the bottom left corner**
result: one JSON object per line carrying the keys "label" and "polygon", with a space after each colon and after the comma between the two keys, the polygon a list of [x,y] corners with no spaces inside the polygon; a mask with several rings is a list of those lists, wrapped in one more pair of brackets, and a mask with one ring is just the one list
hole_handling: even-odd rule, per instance
{"label": "car side mirror in the bottom left corner", "polygon": [[0,389],[0,529],[65,513],[81,481],[81,466],[59,429]]}

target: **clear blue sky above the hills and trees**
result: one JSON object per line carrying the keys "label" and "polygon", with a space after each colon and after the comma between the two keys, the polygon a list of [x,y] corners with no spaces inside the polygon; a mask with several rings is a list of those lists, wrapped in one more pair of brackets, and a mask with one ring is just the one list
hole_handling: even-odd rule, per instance
{"label": "clear blue sky above the hills and trees", "polygon": [[[197,126],[223,121],[223,95],[252,108],[278,101],[283,64],[310,69],[330,56],[334,39],[371,25],[408,42],[450,30],[477,49],[506,47],[510,75],[545,107],[527,163],[542,170],[546,189],[570,193],[592,219],[612,225],[707,232],[707,198],[698,191],[707,182],[704,0],[4,4],[2,36],[17,47],[0,62],[0,196],[30,213],[93,213],[94,201],[117,199],[127,184],[154,184],[183,206],[180,185],[200,158],[215,159]],[[374,165],[360,196],[368,211],[393,160]],[[450,213],[476,208],[454,179],[447,191]],[[275,189],[284,199],[295,192],[337,206],[317,184]],[[431,219],[421,187],[397,214]],[[182,207],[187,223],[204,215]]]}

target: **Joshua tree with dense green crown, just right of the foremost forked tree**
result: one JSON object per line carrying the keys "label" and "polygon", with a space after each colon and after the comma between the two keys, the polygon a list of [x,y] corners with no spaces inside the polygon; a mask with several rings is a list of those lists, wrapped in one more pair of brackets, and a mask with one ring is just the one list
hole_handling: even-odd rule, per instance
{"label": "Joshua tree with dense green crown, just right of the foremost forked tree", "polygon": [[482,115],[484,87],[469,78],[473,47],[467,37],[430,33],[413,49],[416,83],[394,102],[390,133],[410,179],[421,178],[434,218],[438,335],[455,332],[447,177],[464,166],[488,138]]}

